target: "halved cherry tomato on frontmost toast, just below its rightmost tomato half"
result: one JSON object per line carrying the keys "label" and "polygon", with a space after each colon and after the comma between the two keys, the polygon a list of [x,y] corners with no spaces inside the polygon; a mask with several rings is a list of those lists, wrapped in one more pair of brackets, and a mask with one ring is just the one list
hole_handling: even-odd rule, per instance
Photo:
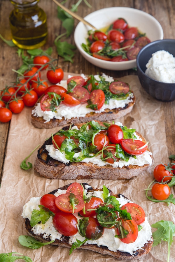
{"label": "halved cherry tomato on frontmost toast, just below its rightmost tomato half", "polygon": [[129,233],[126,235],[125,238],[120,238],[120,240],[126,244],[133,243],[134,241],[136,241],[138,236],[138,227],[136,222],[133,219],[132,220],[122,219],[122,226]]}

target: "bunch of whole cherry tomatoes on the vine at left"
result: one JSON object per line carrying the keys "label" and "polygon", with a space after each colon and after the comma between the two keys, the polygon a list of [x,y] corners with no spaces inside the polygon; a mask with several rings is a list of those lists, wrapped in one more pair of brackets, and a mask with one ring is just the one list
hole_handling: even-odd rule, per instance
{"label": "bunch of whole cherry tomatoes on the vine at left", "polygon": [[[11,120],[12,113],[19,114],[24,106],[33,107],[38,97],[44,94],[48,88],[46,80],[41,79],[40,70],[48,68],[50,59],[47,56],[35,56],[32,68],[24,72],[24,77],[1,91],[0,97],[0,122],[6,123]],[[45,65],[43,67],[43,65]],[[41,68],[42,67],[42,68]],[[41,68],[41,69],[40,69]],[[61,68],[48,70],[47,79],[51,83],[58,83],[63,79],[64,73]]]}

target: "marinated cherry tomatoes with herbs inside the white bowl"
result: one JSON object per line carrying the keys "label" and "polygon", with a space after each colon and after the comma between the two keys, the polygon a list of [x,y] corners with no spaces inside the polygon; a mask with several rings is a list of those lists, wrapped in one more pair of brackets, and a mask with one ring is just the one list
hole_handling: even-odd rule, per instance
{"label": "marinated cherry tomatoes with herbs inside the white bowl", "polygon": [[[88,37],[93,57],[113,62],[133,60],[136,59],[140,49],[150,43],[150,39],[141,35],[136,27],[129,27],[123,18],[115,20],[111,27],[106,34],[95,31]],[[121,49],[124,54],[113,56],[106,51],[106,47],[111,47],[111,50]]]}

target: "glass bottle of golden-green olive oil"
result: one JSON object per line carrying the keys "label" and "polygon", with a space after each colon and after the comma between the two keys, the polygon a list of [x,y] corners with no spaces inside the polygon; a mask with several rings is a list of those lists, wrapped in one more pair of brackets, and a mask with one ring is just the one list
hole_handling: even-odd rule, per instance
{"label": "glass bottle of golden-green olive oil", "polygon": [[35,49],[46,43],[47,17],[38,7],[39,0],[10,0],[14,10],[10,13],[12,41],[22,49]]}

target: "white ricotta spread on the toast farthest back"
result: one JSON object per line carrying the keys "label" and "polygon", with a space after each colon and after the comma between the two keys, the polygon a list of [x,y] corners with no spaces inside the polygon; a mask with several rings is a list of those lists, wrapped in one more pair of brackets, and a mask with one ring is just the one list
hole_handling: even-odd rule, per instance
{"label": "white ricotta spread on the toast farthest back", "polygon": [[[69,75],[68,78],[69,77],[71,77],[71,75]],[[87,77],[85,77],[84,74],[81,74],[81,77],[83,77],[84,79],[87,79]],[[100,80],[99,75],[95,75],[94,77],[97,81]],[[106,82],[111,83],[114,81],[113,77],[107,76],[105,74],[102,74],[102,77],[105,78]],[[63,86],[67,90],[67,80],[62,80],[57,85]],[[101,113],[107,108],[109,110],[112,110],[114,108],[119,108],[119,107],[123,108],[127,104],[133,101],[132,100],[133,97],[134,97],[133,93],[130,93],[129,96],[125,99],[121,99],[121,100],[110,99],[109,104],[104,104],[99,110],[95,110],[95,111],[91,108],[87,108],[86,107],[87,103],[79,104],[77,106],[74,106],[73,108],[61,103],[59,107],[57,108],[57,111],[54,111],[54,112],[53,111],[43,111],[41,110],[41,104],[38,103],[35,106],[35,108],[32,110],[32,114],[37,117],[43,117],[43,119],[46,120],[45,123],[49,122],[54,117],[60,120],[63,117],[65,120],[75,118],[75,117],[79,118],[79,117],[84,117],[86,114],[90,112]]]}

